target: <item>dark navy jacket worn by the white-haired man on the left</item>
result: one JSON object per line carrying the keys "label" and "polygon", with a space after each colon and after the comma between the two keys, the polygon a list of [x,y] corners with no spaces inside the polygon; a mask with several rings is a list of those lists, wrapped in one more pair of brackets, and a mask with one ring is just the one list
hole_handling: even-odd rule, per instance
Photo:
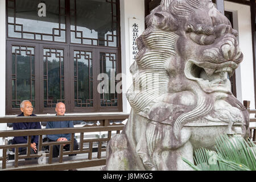
{"label": "dark navy jacket worn by the white-haired man on the left", "polygon": [[[24,116],[21,113],[19,116]],[[36,116],[35,114],[31,114],[30,116]],[[24,122],[24,123],[13,123],[13,130],[31,130],[31,129],[41,129],[40,122]],[[23,137],[14,137],[13,144],[19,143],[27,143],[27,136]],[[38,135],[31,137],[31,143],[38,144]]]}

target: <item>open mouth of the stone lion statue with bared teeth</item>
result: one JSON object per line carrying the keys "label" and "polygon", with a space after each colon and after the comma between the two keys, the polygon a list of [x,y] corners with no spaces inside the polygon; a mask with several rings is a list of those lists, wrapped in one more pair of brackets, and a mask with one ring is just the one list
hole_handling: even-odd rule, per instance
{"label": "open mouth of the stone lion statue with bared teeth", "polygon": [[185,65],[184,72],[188,79],[195,80],[205,92],[224,92],[231,94],[229,77],[232,76],[236,68],[237,64],[232,62],[205,64],[189,60]]}

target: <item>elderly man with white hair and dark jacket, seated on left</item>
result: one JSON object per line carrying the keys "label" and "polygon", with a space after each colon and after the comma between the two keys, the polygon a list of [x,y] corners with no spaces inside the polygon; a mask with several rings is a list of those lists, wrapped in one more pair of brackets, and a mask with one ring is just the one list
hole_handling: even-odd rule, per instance
{"label": "elderly man with white hair and dark jacket, seated on left", "polygon": [[[33,106],[30,101],[25,100],[22,101],[20,104],[20,110],[22,111],[20,116],[36,116],[32,114]],[[40,122],[23,122],[23,123],[13,123],[14,130],[30,130],[30,129],[41,129]],[[27,136],[23,137],[14,137],[13,144],[20,144],[20,143],[27,143]],[[38,136],[31,137],[31,144],[30,144],[30,154],[36,154],[38,150]],[[14,151],[14,149],[13,149]],[[19,148],[19,154],[26,155],[27,154],[27,147]]]}

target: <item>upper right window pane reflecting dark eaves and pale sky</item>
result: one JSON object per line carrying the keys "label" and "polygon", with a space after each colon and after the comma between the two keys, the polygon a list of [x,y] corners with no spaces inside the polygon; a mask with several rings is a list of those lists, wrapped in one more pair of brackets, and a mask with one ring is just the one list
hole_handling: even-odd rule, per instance
{"label": "upper right window pane reflecting dark eaves and pale sky", "polygon": [[73,0],[70,11],[72,43],[118,47],[115,1]]}

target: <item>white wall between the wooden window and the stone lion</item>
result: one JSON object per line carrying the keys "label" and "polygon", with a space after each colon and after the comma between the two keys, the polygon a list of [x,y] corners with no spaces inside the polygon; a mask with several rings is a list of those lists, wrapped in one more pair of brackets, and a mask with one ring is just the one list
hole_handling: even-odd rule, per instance
{"label": "white wall between the wooden window and the stone lion", "polygon": [[121,0],[121,53],[122,53],[122,73],[126,75],[123,78],[123,112],[130,113],[130,104],[126,98],[127,89],[131,85],[130,73],[130,46],[129,46],[129,18],[136,18],[141,21],[142,30],[144,30],[144,0]]}

